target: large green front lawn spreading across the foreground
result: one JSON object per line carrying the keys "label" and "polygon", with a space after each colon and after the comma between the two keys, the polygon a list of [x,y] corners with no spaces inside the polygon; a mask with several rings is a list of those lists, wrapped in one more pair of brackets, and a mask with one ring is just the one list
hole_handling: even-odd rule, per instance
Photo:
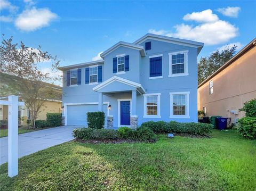
{"label": "large green front lawn spreading across the foreground", "polygon": [[0,169],[1,190],[255,190],[256,141],[235,131],[154,144],[68,142]]}

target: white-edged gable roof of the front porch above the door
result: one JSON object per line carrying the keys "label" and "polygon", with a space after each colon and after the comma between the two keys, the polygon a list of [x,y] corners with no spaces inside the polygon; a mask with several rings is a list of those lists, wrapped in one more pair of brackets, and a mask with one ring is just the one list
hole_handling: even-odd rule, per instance
{"label": "white-edged gable roof of the front porch above the door", "polygon": [[137,88],[138,92],[140,94],[145,94],[145,89],[141,86],[141,84],[137,83],[137,82],[134,82],[134,81],[130,81],[130,80],[126,80],[124,78],[120,78],[118,76],[113,76],[109,79],[107,79],[106,81],[103,81],[100,85],[98,86],[95,86],[92,90],[97,92],[98,90],[100,90],[101,88],[113,83],[114,81],[118,81],[118,82],[121,82],[123,84],[126,84],[126,85],[129,85],[129,86],[132,86],[132,87],[135,87]]}

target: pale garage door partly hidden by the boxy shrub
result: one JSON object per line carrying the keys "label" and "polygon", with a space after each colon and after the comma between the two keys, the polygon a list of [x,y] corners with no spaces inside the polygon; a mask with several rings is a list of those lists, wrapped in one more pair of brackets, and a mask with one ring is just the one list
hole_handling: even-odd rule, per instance
{"label": "pale garage door partly hidden by the boxy shrub", "polygon": [[[107,104],[103,104],[105,112],[105,126],[107,126]],[[98,104],[90,105],[67,105],[67,124],[87,127],[87,112],[98,111]]]}

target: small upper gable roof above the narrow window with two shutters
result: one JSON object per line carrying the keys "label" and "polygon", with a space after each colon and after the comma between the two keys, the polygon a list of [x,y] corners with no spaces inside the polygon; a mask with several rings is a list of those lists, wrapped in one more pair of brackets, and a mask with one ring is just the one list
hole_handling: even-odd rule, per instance
{"label": "small upper gable roof above the narrow window with two shutters", "polygon": [[102,57],[102,59],[103,59],[106,55],[108,55],[110,52],[114,51],[115,49],[117,49],[120,46],[127,47],[127,48],[132,48],[132,49],[137,49],[138,51],[140,51],[140,55],[142,57],[144,57],[146,55],[143,46],[135,45],[135,44],[132,44],[132,43],[126,43],[124,41],[119,41],[119,43],[116,43],[114,46],[111,46],[106,51],[102,52],[100,54],[100,57]]}

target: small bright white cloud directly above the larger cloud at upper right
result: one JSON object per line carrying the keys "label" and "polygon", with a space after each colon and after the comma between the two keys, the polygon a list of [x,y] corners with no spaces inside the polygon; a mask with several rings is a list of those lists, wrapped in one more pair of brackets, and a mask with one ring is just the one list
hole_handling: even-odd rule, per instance
{"label": "small bright white cloud directly above the larger cloud at upper right", "polygon": [[193,12],[191,14],[188,13],[185,16],[183,16],[183,20],[197,22],[215,22],[218,21],[219,18],[217,14],[212,13],[212,10],[207,9],[201,12]]}

